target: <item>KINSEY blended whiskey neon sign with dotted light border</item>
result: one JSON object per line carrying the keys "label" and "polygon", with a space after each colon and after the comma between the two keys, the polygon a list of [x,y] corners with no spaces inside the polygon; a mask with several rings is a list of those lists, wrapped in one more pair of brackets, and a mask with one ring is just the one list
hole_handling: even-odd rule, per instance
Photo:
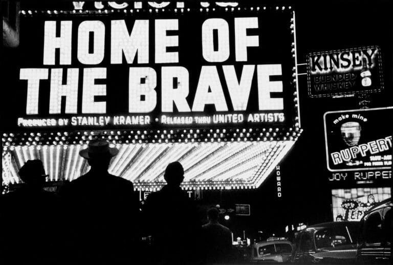
{"label": "KINSEY blended whiskey neon sign with dotted light border", "polygon": [[310,53],[307,60],[310,97],[350,97],[383,89],[377,46]]}

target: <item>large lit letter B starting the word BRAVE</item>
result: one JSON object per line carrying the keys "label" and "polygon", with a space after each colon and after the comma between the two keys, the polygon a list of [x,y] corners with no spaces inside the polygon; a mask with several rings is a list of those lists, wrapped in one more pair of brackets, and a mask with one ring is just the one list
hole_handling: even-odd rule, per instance
{"label": "large lit letter B starting the word BRAVE", "polygon": [[129,68],[129,113],[148,113],[157,104],[156,71],[150,67]]}

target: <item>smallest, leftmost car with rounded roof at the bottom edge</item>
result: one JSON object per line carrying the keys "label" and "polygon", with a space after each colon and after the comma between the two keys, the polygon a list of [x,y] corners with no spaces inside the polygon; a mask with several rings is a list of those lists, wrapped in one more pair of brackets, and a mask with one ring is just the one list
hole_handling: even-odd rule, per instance
{"label": "smallest, leftmost car with rounded roof at the bottom edge", "polygon": [[287,240],[261,241],[251,249],[253,262],[289,262],[293,252],[292,244]]}

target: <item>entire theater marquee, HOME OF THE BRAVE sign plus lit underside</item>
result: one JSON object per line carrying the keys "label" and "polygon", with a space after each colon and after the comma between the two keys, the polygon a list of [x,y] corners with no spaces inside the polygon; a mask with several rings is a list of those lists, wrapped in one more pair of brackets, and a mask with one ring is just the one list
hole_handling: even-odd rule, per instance
{"label": "entire theater marquee, HOME OF THE BRAVE sign plus lit underside", "polygon": [[[253,146],[265,150],[258,156],[268,157],[270,150],[274,158],[282,158],[280,152],[288,151],[300,135],[294,13],[288,7],[115,11],[22,12],[20,56],[12,75],[17,93],[3,97],[14,102],[15,111],[2,117],[5,151],[17,158],[16,168],[48,150],[48,160],[66,161],[61,166],[47,162],[53,179],[73,179],[88,166],[82,161],[71,172],[75,169],[67,170],[68,160],[94,138],[160,165],[167,162],[160,153],[173,152],[170,159],[181,161],[194,147],[199,150],[198,144],[209,142],[212,155],[205,159],[210,165],[213,150],[230,150],[232,142],[254,141]],[[222,148],[214,146],[217,142]],[[129,149],[129,144],[142,149]],[[144,150],[146,145],[154,147]],[[144,151],[146,157],[141,156]],[[135,160],[115,161],[124,166],[117,174],[133,173],[130,163]],[[268,174],[273,162],[256,167],[247,174],[249,181],[237,186],[259,186],[266,176],[255,174]],[[145,180],[143,174],[152,167],[138,168],[142,175],[133,181]],[[228,167],[239,171],[235,164],[223,170]],[[202,175],[195,178],[204,181],[234,178],[217,182],[220,188],[236,186],[235,179],[244,174],[240,170],[219,177],[197,171]],[[149,181],[159,180],[161,166],[154,173]],[[150,184],[144,185],[140,187]]]}

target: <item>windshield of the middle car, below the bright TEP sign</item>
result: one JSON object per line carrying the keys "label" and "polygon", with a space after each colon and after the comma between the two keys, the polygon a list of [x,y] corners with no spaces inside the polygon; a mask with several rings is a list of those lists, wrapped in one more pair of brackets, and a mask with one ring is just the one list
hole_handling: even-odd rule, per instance
{"label": "windshield of the middle car, below the bright TEP sign", "polygon": [[318,249],[351,244],[351,241],[345,226],[326,228],[315,233],[315,245]]}

